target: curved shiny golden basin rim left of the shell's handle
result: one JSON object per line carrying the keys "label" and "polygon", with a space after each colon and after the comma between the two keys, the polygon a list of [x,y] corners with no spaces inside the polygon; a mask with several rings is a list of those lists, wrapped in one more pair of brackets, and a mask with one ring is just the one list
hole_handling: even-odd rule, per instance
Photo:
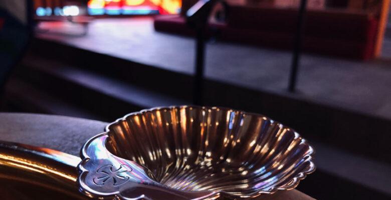
{"label": "curved shiny golden basin rim left of the shell's handle", "polygon": [[80,158],[57,150],[0,141],[0,199],[89,199],[76,186]]}

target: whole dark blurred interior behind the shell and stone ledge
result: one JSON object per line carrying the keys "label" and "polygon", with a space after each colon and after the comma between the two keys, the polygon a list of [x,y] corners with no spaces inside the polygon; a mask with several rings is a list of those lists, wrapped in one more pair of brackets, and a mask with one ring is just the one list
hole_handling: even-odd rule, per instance
{"label": "whole dark blurred interior behind the shell and stone ledge", "polygon": [[299,190],[390,199],[389,0],[197,2],[0,0],[1,111],[263,113],[317,150]]}

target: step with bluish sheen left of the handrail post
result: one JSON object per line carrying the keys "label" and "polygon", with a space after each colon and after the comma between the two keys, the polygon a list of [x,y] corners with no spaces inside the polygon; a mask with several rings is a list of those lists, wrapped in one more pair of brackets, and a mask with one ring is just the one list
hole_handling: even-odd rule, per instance
{"label": "step with bluish sheen left of the handrail post", "polygon": [[26,56],[17,74],[52,95],[113,120],[144,108],[188,104],[122,80],[37,56]]}

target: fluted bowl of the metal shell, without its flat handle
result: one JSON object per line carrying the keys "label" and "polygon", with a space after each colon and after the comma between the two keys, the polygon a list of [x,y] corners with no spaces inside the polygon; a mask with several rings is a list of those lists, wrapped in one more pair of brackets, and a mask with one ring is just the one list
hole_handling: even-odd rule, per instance
{"label": "fluted bowl of the metal shell, without its flat handle", "polygon": [[107,127],[114,154],[183,190],[242,197],[294,188],[315,169],[313,148],[270,118],[219,107],[171,106],[130,113]]}

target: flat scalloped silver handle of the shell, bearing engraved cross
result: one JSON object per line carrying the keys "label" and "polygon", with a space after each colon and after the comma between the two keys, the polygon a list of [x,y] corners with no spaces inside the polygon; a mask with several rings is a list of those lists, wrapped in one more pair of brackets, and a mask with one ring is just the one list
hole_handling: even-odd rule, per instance
{"label": "flat scalloped silver handle of the shell, bearing engraved cross", "polygon": [[119,199],[208,199],[220,192],[172,189],[148,176],[146,167],[117,157],[105,146],[107,133],[99,134],[83,146],[78,165],[79,189],[91,197]]}

